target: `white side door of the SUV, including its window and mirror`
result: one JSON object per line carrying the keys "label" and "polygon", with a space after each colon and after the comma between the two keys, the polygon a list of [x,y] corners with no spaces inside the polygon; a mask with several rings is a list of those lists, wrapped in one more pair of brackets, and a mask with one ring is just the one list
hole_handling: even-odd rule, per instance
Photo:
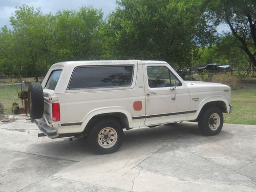
{"label": "white side door of the SUV, including its window and mirror", "polygon": [[167,65],[143,65],[146,97],[145,125],[185,121],[190,95],[186,84]]}

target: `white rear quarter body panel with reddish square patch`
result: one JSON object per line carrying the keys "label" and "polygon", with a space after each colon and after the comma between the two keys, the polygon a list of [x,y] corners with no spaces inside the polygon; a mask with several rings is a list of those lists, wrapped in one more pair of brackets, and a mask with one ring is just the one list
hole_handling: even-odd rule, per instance
{"label": "white rear quarter body panel with reddish square patch", "polygon": [[[129,120],[130,127],[144,126],[144,119],[132,119],[133,116],[145,115],[145,92],[141,65],[134,65],[133,82],[130,87],[67,90],[71,73],[66,68],[63,70],[63,76],[67,71],[69,71],[69,78],[61,79],[60,86],[55,90],[56,92],[62,90],[63,93],[54,95],[58,97],[60,103],[60,123],[66,125],[77,123],[77,125],[60,126],[58,127],[59,134],[82,132],[88,121],[94,115],[101,113],[123,112]],[[140,75],[137,75],[138,71]],[[142,102],[140,111],[135,111],[133,107],[135,101]]]}

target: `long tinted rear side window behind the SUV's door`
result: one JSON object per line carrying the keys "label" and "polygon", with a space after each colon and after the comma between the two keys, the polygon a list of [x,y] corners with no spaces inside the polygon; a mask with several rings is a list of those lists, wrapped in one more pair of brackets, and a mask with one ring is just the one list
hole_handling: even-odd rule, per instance
{"label": "long tinted rear side window behind the SUV's door", "polygon": [[68,89],[131,86],[134,66],[88,66],[74,70]]}

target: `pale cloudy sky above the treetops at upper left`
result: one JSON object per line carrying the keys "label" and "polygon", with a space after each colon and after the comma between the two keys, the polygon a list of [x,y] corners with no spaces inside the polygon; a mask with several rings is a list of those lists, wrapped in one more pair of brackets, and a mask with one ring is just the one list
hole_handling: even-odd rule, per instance
{"label": "pale cloudy sky above the treetops at upper left", "polygon": [[0,0],[0,28],[7,25],[10,28],[10,17],[15,12],[15,7],[33,5],[41,8],[43,13],[56,13],[59,10],[77,10],[82,6],[93,6],[102,9],[104,17],[115,10],[116,0]]}

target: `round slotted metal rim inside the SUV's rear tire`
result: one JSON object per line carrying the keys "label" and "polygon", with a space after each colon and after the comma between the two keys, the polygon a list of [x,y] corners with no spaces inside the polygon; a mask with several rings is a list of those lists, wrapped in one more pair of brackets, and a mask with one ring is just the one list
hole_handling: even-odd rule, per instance
{"label": "round slotted metal rim inside the SUV's rear tire", "polygon": [[98,134],[98,143],[103,148],[110,148],[117,142],[117,132],[112,127],[104,127]]}

